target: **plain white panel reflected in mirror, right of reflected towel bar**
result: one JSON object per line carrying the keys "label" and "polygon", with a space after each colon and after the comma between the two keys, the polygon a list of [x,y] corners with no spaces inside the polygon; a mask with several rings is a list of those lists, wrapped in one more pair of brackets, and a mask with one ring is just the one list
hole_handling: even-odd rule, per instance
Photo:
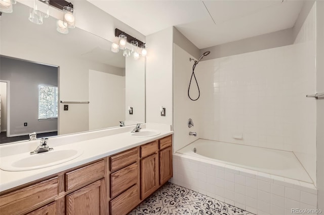
{"label": "plain white panel reflected in mirror, right of reflected towel bar", "polygon": [[89,70],[89,130],[125,121],[125,76]]}

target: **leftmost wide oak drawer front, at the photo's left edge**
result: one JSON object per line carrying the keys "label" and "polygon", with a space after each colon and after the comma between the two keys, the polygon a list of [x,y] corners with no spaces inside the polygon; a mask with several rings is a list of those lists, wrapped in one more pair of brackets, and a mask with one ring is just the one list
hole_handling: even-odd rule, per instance
{"label": "leftmost wide oak drawer front, at the photo's left edge", "polygon": [[58,177],[0,196],[0,214],[21,214],[58,196]]}

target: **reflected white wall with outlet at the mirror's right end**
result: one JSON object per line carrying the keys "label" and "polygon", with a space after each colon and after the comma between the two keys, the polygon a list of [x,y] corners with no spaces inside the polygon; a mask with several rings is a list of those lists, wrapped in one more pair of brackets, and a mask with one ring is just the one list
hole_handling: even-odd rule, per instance
{"label": "reflected white wall with outlet at the mirror's right end", "polygon": [[[126,58],[126,101],[124,115],[125,124],[145,122],[145,58],[135,60],[133,57]],[[128,107],[133,107],[133,114],[129,114]],[[121,120],[120,120],[121,121]],[[123,120],[124,121],[124,120]]]}

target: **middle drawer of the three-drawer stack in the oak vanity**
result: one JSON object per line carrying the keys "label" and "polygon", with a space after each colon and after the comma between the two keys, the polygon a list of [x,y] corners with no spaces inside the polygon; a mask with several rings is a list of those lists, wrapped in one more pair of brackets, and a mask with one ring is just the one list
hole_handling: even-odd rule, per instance
{"label": "middle drawer of the three-drawer stack in the oak vanity", "polygon": [[114,198],[138,181],[138,163],[122,168],[110,176],[110,197]]}

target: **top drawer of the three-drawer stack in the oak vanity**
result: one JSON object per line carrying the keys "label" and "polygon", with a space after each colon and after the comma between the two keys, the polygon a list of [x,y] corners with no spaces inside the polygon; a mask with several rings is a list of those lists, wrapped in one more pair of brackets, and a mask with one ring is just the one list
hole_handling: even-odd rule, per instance
{"label": "top drawer of the three-drawer stack in the oak vanity", "polygon": [[110,171],[121,169],[138,160],[137,148],[110,157]]}

